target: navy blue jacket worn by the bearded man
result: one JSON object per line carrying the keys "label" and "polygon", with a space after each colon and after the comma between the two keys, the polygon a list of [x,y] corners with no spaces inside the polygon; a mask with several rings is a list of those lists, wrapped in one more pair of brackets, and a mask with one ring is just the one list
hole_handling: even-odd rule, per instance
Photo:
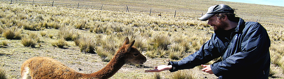
{"label": "navy blue jacket worn by the bearded man", "polygon": [[199,51],[181,61],[170,61],[171,72],[190,69],[215,58],[222,61],[211,65],[219,79],[268,79],[270,70],[270,38],[257,22],[244,22],[231,33],[216,32]]}

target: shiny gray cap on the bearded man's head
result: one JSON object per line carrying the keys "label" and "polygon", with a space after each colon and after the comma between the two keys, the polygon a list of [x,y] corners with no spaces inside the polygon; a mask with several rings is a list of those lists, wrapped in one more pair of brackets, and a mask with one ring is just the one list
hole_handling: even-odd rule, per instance
{"label": "shiny gray cap on the bearded man's head", "polygon": [[209,17],[211,17],[212,15],[216,13],[234,13],[234,10],[227,5],[218,4],[218,5],[209,7],[207,13],[203,15],[202,17],[200,17],[199,20],[206,21],[208,20]]}

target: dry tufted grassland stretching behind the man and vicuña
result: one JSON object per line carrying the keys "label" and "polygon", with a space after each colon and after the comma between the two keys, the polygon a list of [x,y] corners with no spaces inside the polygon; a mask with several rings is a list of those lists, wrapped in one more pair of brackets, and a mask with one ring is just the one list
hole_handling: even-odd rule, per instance
{"label": "dry tufted grassland stretching behind the man and vicu\u00f1a", "polygon": [[[134,45],[147,56],[147,62],[126,64],[112,79],[187,78],[184,75],[192,76],[189,79],[215,79],[215,75],[201,72],[200,67],[176,73],[144,72],[168,61],[178,61],[209,40],[214,33],[212,27],[197,18],[215,4],[237,8],[238,17],[257,21],[267,29],[272,41],[271,79],[284,77],[283,7],[211,0],[54,2],[51,6],[52,0],[38,0],[33,5],[31,1],[10,4],[1,0],[0,61],[8,70],[7,78],[20,78],[21,64],[33,56],[54,58],[73,69],[82,69],[77,70],[81,73],[96,72],[108,63],[122,40],[129,37],[136,40]],[[126,5],[130,12],[126,12]],[[162,16],[157,16],[160,13]]]}

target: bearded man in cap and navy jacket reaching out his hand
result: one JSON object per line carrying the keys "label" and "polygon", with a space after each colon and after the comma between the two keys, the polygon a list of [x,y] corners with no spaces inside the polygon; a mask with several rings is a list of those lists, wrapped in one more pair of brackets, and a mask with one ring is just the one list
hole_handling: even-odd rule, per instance
{"label": "bearded man in cap and navy jacket reaching out his hand", "polygon": [[[234,9],[224,4],[211,6],[199,20],[208,20],[215,32],[199,51],[146,72],[174,72],[201,65],[205,67],[202,71],[219,79],[268,79],[270,39],[262,25],[244,22],[235,17]],[[222,61],[202,65],[219,57]]]}

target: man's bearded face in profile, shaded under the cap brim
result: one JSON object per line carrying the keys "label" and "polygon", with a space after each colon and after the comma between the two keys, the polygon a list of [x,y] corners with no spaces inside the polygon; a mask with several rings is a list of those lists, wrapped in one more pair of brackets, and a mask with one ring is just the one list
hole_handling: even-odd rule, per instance
{"label": "man's bearded face in profile, shaded under the cap brim", "polygon": [[209,17],[207,24],[213,26],[215,31],[228,28],[228,23],[224,22],[223,18],[218,18],[216,16]]}

